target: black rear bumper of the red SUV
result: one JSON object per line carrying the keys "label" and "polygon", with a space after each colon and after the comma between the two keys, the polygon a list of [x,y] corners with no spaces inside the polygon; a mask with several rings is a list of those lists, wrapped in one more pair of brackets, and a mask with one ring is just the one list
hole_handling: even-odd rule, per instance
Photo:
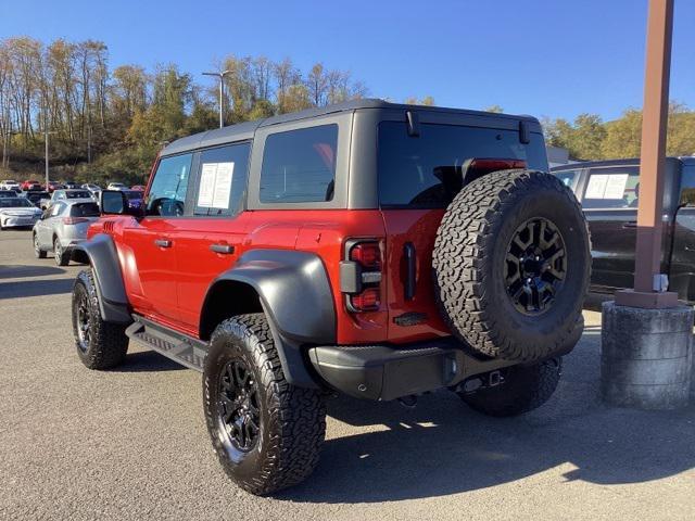
{"label": "black rear bumper of the red SUV", "polygon": [[365,399],[389,401],[456,385],[518,364],[479,359],[446,336],[407,346],[318,346],[308,350],[318,374],[333,389]]}

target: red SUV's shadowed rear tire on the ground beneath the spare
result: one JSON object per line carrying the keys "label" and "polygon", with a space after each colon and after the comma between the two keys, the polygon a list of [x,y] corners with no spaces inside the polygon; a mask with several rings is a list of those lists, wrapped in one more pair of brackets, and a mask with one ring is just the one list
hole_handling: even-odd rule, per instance
{"label": "red SUV's shadowed rear tire on the ground beneath the spare", "polygon": [[488,416],[518,416],[536,409],[553,396],[563,373],[563,359],[503,369],[503,382],[473,393],[458,392],[473,410]]}

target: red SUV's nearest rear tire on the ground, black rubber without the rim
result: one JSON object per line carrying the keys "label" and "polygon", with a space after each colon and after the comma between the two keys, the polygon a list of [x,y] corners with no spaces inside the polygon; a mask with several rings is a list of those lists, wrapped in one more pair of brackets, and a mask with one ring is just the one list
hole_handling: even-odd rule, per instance
{"label": "red SUV's nearest rear tire on the ground, black rubber without the rim", "polygon": [[[241,361],[256,384],[260,429],[255,445],[240,450],[224,427],[220,379]],[[213,447],[227,474],[244,491],[271,494],[294,485],[316,467],[326,434],[319,391],[290,384],[264,314],[239,315],[213,332],[203,372],[203,407]]]}

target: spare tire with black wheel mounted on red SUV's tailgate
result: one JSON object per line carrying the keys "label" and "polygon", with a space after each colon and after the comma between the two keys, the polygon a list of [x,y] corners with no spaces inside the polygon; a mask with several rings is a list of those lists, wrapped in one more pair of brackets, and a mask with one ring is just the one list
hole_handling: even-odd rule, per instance
{"label": "spare tire with black wheel mounted on red SUV's tailgate", "polygon": [[549,174],[500,170],[464,187],[432,267],[445,322],[477,354],[534,361],[581,336],[589,231],[572,191]]}

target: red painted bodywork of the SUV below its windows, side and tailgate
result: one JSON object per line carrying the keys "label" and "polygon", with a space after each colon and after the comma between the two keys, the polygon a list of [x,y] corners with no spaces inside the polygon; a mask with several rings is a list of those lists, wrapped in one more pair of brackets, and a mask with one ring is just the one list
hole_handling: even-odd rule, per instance
{"label": "red painted bodywork of the SUV below its windows, side and tailgate", "polygon": [[[406,343],[450,334],[437,313],[430,276],[442,215],[441,209],[270,209],[247,211],[233,218],[114,216],[94,223],[89,237],[105,231],[114,238],[135,313],[186,334],[200,338],[205,294],[239,257],[254,249],[288,249],[321,258],[333,294],[338,344]],[[348,310],[340,289],[343,245],[359,238],[379,241],[383,257],[381,303],[367,313]],[[155,240],[169,241],[170,246],[157,246]],[[417,250],[417,285],[415,297],[406,302],[401,252],[407,241]],[[233,245],[235,252],[214,253],[214,243]],[[412,312],[424,315],[421,323],[393,322]]]}

